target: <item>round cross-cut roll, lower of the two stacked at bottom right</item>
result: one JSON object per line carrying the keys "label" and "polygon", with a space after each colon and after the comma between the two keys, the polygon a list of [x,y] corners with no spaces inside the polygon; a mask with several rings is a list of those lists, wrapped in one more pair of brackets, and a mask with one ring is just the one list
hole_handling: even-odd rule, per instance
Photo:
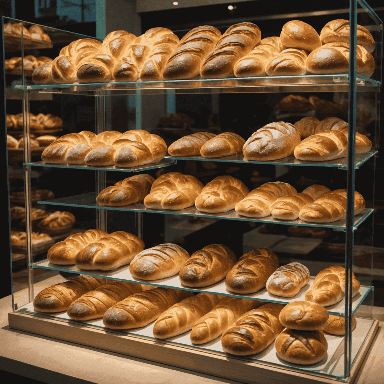
{"label": "round cross-cut roll, lower of the two stacked at bottom right", "polygon": [[314,364],[327,356],[328,343],[322,331],[284,328],[275,343],[277,356],[294,364]]}

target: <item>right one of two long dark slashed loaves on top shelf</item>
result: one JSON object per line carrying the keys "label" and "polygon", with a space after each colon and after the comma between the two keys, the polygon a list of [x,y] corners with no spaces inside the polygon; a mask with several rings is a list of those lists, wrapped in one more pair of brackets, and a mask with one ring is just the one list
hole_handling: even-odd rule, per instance
{"label": "right one of two long dark slashed loaves on top shelf", "polygon": [[255,48],[261,38],[260,28],[253,23],[238,23],[230,26],[202,63],[201,77],[211,79],[233,77],[233,66]]}

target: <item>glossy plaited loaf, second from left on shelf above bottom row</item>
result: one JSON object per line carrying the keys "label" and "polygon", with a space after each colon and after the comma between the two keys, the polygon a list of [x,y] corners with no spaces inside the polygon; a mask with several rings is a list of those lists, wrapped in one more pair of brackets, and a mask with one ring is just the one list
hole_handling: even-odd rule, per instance
{"label": "glossy plaited loaf, second from left on shelf above bottom row", "polygon": [[129,264],[144,249],[144,242],[132,233],[118,231],[82,249],[74,262],[79,269],[111,271]]}

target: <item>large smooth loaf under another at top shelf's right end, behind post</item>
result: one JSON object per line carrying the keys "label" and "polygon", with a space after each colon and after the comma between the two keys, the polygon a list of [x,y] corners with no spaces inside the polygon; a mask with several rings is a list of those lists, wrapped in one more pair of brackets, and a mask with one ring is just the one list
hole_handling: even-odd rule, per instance
{"label": "large smooth loaf under another at top shelf's right end, behind post", "polygon": [[[305,62],[307,71],[314,74],[349,72],[349,44],[328,43],[312,51]],[[356,73],[370,78],[376,69],[372,55],[361,45],[356,46]]]}

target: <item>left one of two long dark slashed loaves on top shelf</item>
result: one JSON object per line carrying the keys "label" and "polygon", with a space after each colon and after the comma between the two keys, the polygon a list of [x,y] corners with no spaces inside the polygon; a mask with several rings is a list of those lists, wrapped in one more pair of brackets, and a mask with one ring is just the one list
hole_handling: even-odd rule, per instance
{"label": "left one of two long dark slashed loaves on top shelf", "polygon": [[163,71],[164,79],[192,79],[199,75],[202,62],[220,37],[220,31],[210,25],[190,30],[169,58]]}

